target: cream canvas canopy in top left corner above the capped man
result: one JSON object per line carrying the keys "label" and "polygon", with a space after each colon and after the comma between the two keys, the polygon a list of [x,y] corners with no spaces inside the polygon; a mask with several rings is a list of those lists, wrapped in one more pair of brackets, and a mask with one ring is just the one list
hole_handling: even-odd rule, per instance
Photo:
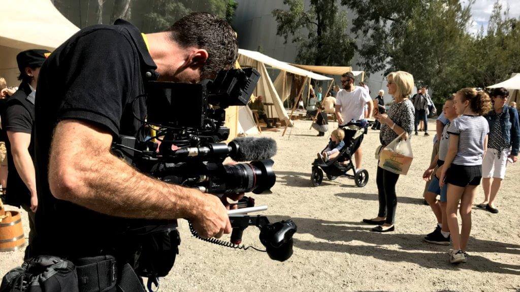
{"label": "cream canvas canopy in top left corner above the capped man", "polygon": [[17,86],[16,55],[27,49],[52,51],[79,29],[50,0],[2,0],[0,76]]}

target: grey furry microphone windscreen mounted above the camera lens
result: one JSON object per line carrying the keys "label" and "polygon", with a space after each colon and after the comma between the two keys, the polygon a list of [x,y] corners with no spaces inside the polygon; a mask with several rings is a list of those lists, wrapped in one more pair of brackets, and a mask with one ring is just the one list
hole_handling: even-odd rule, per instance
{"label": "grey furry microphone windscreen mounted above the camera lens", "polygon": [[276,141],[271,138],[238,137],[233,139],[238,145],[238,151],[233,160],[256,161],[265,160],[276,155]]}

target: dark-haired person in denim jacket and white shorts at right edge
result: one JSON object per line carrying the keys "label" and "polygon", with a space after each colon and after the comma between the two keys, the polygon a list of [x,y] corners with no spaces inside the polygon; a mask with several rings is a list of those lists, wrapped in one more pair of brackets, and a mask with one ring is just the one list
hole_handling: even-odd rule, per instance
{"label": "dark-haired person in denim jacket and white shorts at right edge", "polygon": [[[515,163],[520,147],[520,126],[518,112],[515,108],[506,105],[509,91],[503,87],[491,91],[493,108],[485,115],[489,123],[489,139],[487,152],[482,162],[482,187],[484,188],[484,202],[478,207],[491,213],[498,213],[495,206],[500,184],[505,176],[505,168]],[[491,178],[493,178],[491,182]]]}

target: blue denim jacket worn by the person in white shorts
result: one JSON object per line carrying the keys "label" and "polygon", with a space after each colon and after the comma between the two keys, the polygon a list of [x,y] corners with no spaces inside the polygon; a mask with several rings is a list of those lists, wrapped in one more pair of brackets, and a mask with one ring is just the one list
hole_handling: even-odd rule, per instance
{"label": "blue denim jacket worn by the person in white shorts", "polygon": [[[504,105],[502,109],[502,117],[500,118],[500,127],[502,128],[502,137],[506,143],[511,144],[511,155],[518,155],[518,148],[520,148],[520,125],[518,124],[518,112],[515,108]],[[498,120],[498,115],[494,109],[486,114],[486,120],[489,123],[489,129],[493,129],[493,125]]]}

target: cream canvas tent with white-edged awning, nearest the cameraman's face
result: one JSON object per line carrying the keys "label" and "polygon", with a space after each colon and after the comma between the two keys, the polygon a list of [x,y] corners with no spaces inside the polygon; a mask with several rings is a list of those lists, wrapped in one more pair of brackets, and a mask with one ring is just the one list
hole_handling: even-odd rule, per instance
{"label": "cream canvas tent with white-edged awning, nearest the cameraman's face", "polygon": [[[319,75],[307,70],[296,68],[288,63],[273,59],[257,51],[239,49],[238,61],[240,65],[252,67],[260,72],[261,78],[255,89],[255,96],[263,96],[265,103],[272,103],[271,116],[278,118],[280,121],[289,121],[289,115],[283,107],[283,101],[280,98],[279,91],[275,88],[271,78],[267,72],[266,66],[279,69],[283,72],[289,72],[299,76],[305,76],[315,80],[331,81],[332,78]],[[289,91],[289,90],[287,90]],[[287,95],[287,91],[285,95]]]}

